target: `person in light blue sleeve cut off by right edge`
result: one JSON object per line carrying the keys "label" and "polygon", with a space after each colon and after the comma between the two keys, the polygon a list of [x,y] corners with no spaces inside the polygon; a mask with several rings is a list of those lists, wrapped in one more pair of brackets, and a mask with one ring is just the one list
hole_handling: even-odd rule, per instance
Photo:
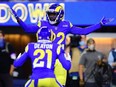
{"label": "person in light blue sleeve cut off by right edge", "polygon": [[111,87],[116,87],[116,39],[113,40],[112,49],[109,52],[108,63],[112,67],[112,84]]}

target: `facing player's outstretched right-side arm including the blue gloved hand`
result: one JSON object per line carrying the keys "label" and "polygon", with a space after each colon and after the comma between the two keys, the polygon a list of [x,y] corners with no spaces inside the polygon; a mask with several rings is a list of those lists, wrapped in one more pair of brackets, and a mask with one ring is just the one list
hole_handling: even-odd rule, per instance
{"label": "facing player's outstretched right-side arm including the blue gloved hand", "polygon": [[113,18],[105,18],[103,17],[100,21],[100,23],[89,26],[89,27],[85,27],[85,28],[81,28],[81,27],[76,27],[73,26],[71,28],[71,33],[72,34],[80,34],[80,35],[87,35],[97,29],[100,29],[102,27],[102,25],[105,25],[109,22],[113,21]]}

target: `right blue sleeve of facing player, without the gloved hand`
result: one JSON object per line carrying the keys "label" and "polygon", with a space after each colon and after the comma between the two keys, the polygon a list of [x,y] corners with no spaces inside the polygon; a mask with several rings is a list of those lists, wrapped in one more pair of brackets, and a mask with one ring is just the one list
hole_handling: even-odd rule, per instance
{"label": "right blue sleeve of facing player, without the gloved hand", "polygon": [[85,28],[81,28],[81,27],[76,27],[76,26],[72,26],[70,29],[70,33],[72,34],[79,34],[79,35],[87,35],[97,29],[101,28],[101,24],[95,24],[95,25],[91,25]]}

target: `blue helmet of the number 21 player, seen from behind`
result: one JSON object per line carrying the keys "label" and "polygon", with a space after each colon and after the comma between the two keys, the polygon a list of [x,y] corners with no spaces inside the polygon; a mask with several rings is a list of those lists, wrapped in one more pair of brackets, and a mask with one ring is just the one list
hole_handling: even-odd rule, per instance
{"label": "blue helmet of the number 21 player, seen from behind", "polygon": [[46,26],[41,27],[37,33],[37,40],[50,40],[51,31]]}

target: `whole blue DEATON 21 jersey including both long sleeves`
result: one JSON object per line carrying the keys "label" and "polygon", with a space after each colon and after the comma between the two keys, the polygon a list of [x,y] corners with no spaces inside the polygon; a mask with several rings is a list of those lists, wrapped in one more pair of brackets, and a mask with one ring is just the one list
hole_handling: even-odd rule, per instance
{"label": "whole blue DEATON 21 jersey including both long sleeves", "polygon": [[69,70],[71,67],[71,62],[64,56],[62,46],[48,40],[29,43],[21,57],[14,61],[14,66],[21,66],[27,58],[31,58],[32,62],[32,79],[55,78],[54,64],[56,58],[60,60],[65,69]]}

